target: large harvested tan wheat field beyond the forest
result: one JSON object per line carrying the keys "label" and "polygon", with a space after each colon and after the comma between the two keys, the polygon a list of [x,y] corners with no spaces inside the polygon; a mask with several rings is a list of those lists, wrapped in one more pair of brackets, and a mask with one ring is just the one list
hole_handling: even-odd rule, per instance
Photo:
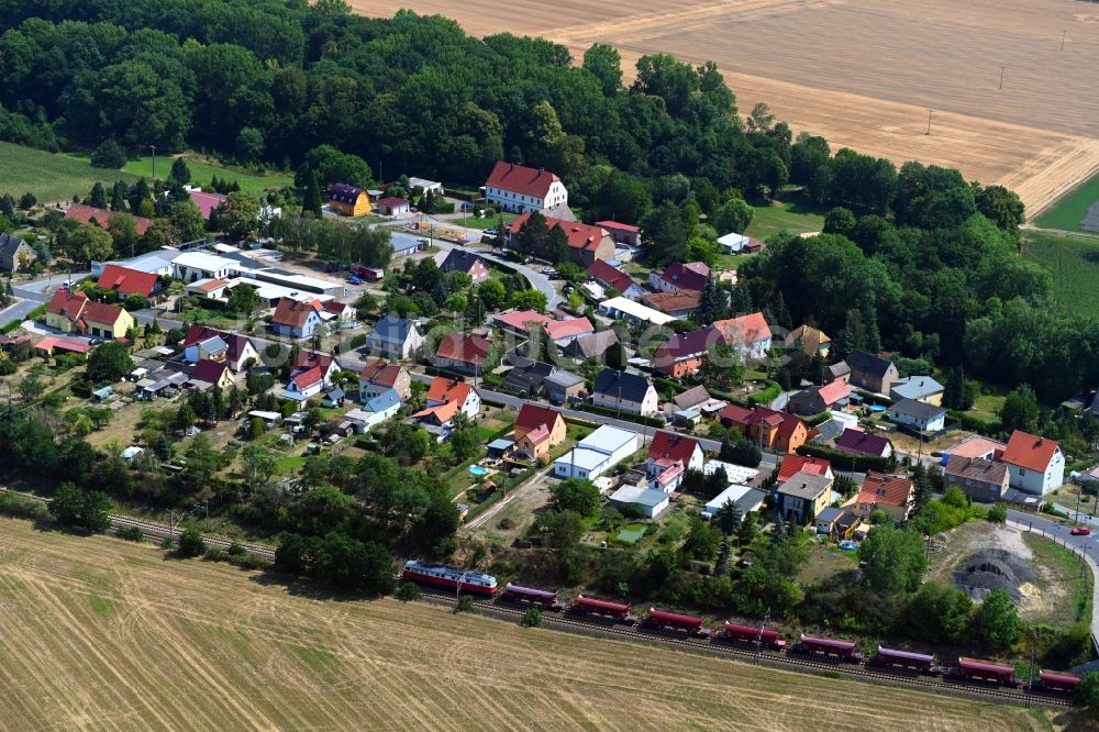
{"label": "large harvested tan wheat field beyond the forest", "polygon": [[401,7],[440,13],[476,35],[542,35],[576,57],[609,43],[622,52],[626,73],[650,53],[713,60],[743,111],[766,101],[833,148],[950,165],[1002,182],[1019,191],[1030,215],[1099,170],[1099,5],[1079,0],[352,5],[376,15]]}

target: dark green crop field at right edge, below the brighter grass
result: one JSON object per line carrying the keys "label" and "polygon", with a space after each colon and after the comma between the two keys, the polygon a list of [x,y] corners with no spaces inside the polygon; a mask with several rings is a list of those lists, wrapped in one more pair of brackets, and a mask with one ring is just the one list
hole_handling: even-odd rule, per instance
{"label": "dark green crop field at right edge, below the brighter grass", "polygon": [[1066,310],[1099,312],[1099,236],[1024,233],[1023,256],[1053,273],[1053,296]]}

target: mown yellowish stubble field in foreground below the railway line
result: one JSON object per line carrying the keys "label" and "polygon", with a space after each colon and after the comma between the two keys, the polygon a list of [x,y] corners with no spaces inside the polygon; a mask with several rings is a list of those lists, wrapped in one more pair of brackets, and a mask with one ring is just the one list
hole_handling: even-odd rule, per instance
{"label": "mown yellowish stubble field in foreground below the railway line", "polygon": [[430,606],[319,598],[10,519],[0,537],[3,729],[865,732],[1077,721]]}

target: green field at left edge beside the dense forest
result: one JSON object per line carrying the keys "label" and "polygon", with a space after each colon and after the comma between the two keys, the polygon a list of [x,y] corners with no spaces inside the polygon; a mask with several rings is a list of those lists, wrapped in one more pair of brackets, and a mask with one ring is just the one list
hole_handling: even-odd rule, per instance
{"label": "green field at left edge beside the dense forest", "polygon": [[71,201],[87,196],[97,180],[104,186],[133,180],[120,170],[93,168],[87,160],[0,142],[0,193],[19,198],[30,191],[40,203]]}

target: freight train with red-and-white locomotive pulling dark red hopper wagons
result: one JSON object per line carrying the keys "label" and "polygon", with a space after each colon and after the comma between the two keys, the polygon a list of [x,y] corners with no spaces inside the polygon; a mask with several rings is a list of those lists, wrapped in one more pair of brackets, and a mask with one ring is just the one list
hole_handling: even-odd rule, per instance
{"label": "freight train with red-and-white locomotive pulling dark red hopper wagons", "polygon": [[[980,684],[1019,688],[1023,680],[1015,676],[1014,668],[991,661],[961,656],[956,665],[944,666],[935,662],[931,654],[887,648],[879,645],[877,653],[866,657],[855,643],[841,639],[819,635],[801,635],[797,643],[788,645],[777,631],[756,625],[726,622],[720,630],[707,628],[701,618],[686,615],[669,610],[650,608],[646,618],[639,618],[630,611],[629,603],[602,600],[580,595],[566,606],[556,590],[524,587],[508,583],[497,596],[496,578],[479,572],[463,570],[440,564],[410,561],[404,564],[404,579],[433,587],[474,592],[498,600],[525,606],[536,606],[553,612],[567,612],[582,618],[595,618],[613,623],[634,625],[653,631],[670,632],[706,639],[711,642],[742,644],[759,651],[789,653],[801,656],[834,661],[839,663],[865,664],[867,667],[914,673],[925,676],[941,676],[955,683]],[[1035,680],[1035,689],[1051,694],[1072,694],[1080,683],[1079,677],[1063,672],[1042,669]]]}

